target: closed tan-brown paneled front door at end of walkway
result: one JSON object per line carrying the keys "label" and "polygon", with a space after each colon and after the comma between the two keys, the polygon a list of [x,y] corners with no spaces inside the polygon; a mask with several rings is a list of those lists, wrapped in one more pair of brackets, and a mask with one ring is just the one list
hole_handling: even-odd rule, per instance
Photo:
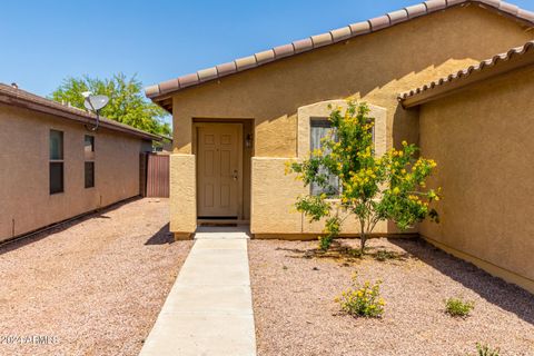
{"label": "closed tan-brown paneled front door at end of walkway", "polygon": [[202,123],[197,130],[199,218],[239,217],[239,123]]}

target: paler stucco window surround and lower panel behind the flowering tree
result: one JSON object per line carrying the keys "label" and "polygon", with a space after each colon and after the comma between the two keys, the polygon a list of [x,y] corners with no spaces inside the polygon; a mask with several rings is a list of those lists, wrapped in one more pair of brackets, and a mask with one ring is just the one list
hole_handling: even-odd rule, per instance
{"label": "paler stucco window surround and lower panel behind the flowering tree", "polygon": [[[310,119],[328,117],[332,111],[328,106],[346,110],[347,102],[328,100],[298,108],[298,155],[296,159],[305,159],[309,156]],[[369,116],[375,119],[375,152],[382,156],[387,147],[387,111],[377,106],[369,106]],[[295,210],[297,197],[309,191],[309,187],[305,188],[300,180],[295,179],[295,175],[285,175],[285,164],[296,159],[253,158],[253,214],[250,220],[253,234],[313,234],[316,236],[323,231],[324,221],[309,222],[306,216]],[[359,231],[359,225],[355,219],[347,218],[343,230],[346,234],[354,234]],[[388,233],[387,224],[377,225],[375,233]]]}

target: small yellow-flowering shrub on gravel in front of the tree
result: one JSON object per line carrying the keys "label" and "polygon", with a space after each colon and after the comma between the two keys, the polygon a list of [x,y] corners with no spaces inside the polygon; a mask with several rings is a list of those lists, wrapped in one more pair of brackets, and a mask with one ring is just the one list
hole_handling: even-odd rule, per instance
{"label": "small yellow-flowering shrub on gravel in front of the tree", "polygon": [[374,285],[365,281],[358,284],[357,274],[353,275],[353,287],[342,293],[336,301],[342,306],[342,310],[352,316],[360,317],[380,317],[384,314],[385,301],[380,297],[380,284],[378,280]]}

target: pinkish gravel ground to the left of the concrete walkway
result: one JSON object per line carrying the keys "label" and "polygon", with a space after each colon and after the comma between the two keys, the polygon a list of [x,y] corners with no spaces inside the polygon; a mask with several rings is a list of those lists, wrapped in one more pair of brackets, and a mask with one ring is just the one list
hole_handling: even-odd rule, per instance
{"label": "pinkish gravel ground to the left of the concrete walkway", "polygon": [[0,247],[0,355],[137,355],[192,245],[167,231],[146,198]]}

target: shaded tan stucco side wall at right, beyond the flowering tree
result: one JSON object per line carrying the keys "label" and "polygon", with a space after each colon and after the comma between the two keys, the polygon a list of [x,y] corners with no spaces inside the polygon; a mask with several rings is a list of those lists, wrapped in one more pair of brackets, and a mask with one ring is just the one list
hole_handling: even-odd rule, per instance
{"label": "shaded tan stucco side wall at right, beyond the flowering tree", "polygon": [[[534,67],[421,108],[421,146],[438,162],[441,224],[421,234],[534,293]],[[514,277],[515,276],[515,277]]]}

